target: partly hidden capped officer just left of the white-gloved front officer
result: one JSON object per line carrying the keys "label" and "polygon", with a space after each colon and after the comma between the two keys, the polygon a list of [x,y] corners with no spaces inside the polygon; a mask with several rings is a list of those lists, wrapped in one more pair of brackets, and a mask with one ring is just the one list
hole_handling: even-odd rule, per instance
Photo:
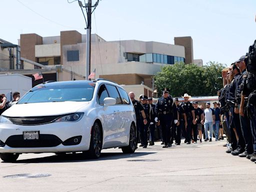
{"label": "partly hidden capped officer just left of the white-gloved front officer", "polygon": [[154,112],[155,105],[153,104],[152,97],[147,98],[147,104],[149,104],[149,145],[154,145],[154,128],[155,128],[155,121],[154,118],[156,117]]}

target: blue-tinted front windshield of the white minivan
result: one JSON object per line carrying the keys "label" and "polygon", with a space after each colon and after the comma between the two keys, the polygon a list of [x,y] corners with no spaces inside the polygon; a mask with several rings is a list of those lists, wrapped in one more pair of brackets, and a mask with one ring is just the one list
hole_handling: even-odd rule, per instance
{"label": "blue-tinted front windshield of the white minivan", "polygon": [[39,84],[29,90],[18,102],[89,101],[93,96],[93,83]]}

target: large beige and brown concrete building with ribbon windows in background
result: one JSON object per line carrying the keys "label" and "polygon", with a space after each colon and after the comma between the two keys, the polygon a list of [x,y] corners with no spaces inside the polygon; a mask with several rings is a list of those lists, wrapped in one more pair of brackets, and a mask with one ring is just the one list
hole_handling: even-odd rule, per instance
{"label": "large beige and brown concrete building with ribbon windows in background", "polygon": [[[59,36],[48,37],[35,33],[20,34],[18,40],[22,58],[48,68],[61,65],[63,70],[80,77],[85,75],[85,43],[86,34],[75,30],[61,31]],[[174,44],[168,44],[140,40],[106,41],[96,34],[91,35],[90,71],[96,70],[96,78],[109,79],[126,87],[136,85],[139,94],[151,96],[152,76],[160,71],[161,66],[180,61],[193,61],[190,36],[174,37]],[[27,67],[30,66],[24,63],[23,68]],[[65,75],[56,78],[66,79]]]}

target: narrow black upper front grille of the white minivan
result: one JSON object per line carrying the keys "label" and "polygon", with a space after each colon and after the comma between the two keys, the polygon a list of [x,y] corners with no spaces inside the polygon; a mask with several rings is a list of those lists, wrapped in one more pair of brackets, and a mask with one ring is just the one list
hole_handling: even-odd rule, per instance
{"label": "narrow black upper front grille of the white minivan", "polygon": [[50,123],[54,119],[63,116],[63,115],[54,115],[54,116],[26,116],[26,117],[8,117],[11,122],[19,125],[36,125],[36,124],[46,124]]}

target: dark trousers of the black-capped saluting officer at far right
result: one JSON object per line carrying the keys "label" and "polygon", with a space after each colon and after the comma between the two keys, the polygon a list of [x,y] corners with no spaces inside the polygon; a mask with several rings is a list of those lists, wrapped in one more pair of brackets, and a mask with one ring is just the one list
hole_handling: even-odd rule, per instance
{"label": "dark trousers of the black-capped saluting officer at far right", "polygon": [[248,154],[251,154],[253,152],[252,134],[250,129],[250,121],[246,113],[244,113],[244,116],[240,116],[240,124],[245,141],[245,150]]}

